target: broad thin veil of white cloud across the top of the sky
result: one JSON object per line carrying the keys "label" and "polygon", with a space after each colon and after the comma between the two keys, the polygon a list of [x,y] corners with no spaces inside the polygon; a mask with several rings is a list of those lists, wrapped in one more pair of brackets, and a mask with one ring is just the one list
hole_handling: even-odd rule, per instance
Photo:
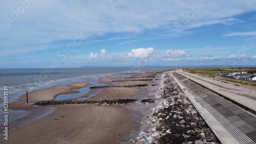
{"label": "broad thin veil of white cloud across the top of the sky", "polygon": [[[12,18],[12,9],[17,11],[17,8],[22,6],[20,2],[1,1],[0,17]],[[198,5],[198,2],[124,1],[120,5],[122,7],[116,7],[113,11],[109,1],[105,0],[35,1],[30,3],[25,12],[12,18],[13,21],[8,23],[10,27],[7,27],[4,19],[0,21],[0,31],[4,33],[0,36],[0,44],[6,47],[6,50],[12,50],[8,53],[11,55],[59,48],[67,45],[67,43],[59,45],[59,41],[73,40],[76,33],[81,33],[83,37],[91,37],[108,33],[141,34],[147,30],[160,28],[162,31],[159,34],[162,35],[166,29],[176,32],[172,26],[175,22],[181,23],[183,15],[193,13],[191,7]],[[254,0],[204,2],[205,7],[194,12],[195,16],[189,18],[186,27],[181,30],[216,23],[232,25],[241,20],[230,17],[256,9]]]}

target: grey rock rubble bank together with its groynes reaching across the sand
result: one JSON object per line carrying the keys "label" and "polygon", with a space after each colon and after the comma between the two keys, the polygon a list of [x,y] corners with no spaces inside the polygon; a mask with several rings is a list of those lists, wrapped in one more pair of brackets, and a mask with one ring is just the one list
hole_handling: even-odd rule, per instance
{"label": "grey rock rubble bank together with its groynes reaching across the sand", "polygon": [[34,105],[118,105],[140,115],[133,120],[130,134],[123,136],[118,143],[220,143],[168,72],[157,77],[161,80],[154,79],[151,85],[93,87],[142,87],[145,93],[138,100],[40,101]]}

